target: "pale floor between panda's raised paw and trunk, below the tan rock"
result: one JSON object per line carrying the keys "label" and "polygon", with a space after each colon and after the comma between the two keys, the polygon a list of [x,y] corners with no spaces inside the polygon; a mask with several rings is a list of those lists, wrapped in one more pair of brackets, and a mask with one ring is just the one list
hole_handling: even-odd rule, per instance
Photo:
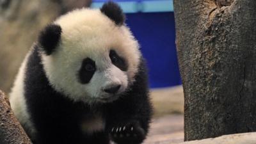
{"label": "pale floor between panda's raised paw and trunk, below the tan rock", "polygon": [[183,115],[166,115],[152,121],[147,140],[143,144],[170,144],[184,140]]}

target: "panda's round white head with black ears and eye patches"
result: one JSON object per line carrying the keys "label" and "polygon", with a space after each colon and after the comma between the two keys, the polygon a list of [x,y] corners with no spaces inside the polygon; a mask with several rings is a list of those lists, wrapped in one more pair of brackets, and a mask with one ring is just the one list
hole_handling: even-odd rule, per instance
{"label": "panda's round white head with black ears and eye patches", "polygon": [[38,38],[51,86],[74,101],[112,102],[129,90],[138,71],[138,42],[113,3],[61,16]]}

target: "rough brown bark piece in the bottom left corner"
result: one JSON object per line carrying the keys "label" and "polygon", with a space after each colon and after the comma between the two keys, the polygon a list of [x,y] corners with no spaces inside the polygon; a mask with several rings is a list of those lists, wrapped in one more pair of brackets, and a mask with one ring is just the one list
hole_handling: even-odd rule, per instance
{"label": "rough brown bark piece in the bottom left corner", "polygon": [[8,98],[0,90],[0,143],[32,144],[26,132],[15,118]]}

